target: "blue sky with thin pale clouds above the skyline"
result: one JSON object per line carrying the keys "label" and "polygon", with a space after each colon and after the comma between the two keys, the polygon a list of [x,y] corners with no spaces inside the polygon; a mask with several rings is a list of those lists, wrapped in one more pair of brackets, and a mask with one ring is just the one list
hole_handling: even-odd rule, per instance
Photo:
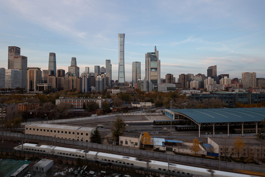
{"label": "blue sky with thin pale clouds above the skyline", "polygon": [[159,51],[161,78],[170,73],[265,77],[265,0],[1,0],[0,67],[7,69],[8,46],[21,48],[28,67],[57,69],[77,58],[80,74],[111,60],[118,79],[118,33],[125,33],[125,78],[132,62]]}

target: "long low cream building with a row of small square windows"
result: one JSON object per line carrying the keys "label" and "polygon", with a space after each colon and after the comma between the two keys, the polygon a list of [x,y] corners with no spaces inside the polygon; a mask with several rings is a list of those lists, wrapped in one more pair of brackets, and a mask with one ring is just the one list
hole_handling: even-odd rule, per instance
{"label": "long low cream building with a row of small square windows", "polygon": [[83,126],[30,123],[25,125],[25,134],[90,142],[91,134],[95,131],[95,129],[96,128]]}

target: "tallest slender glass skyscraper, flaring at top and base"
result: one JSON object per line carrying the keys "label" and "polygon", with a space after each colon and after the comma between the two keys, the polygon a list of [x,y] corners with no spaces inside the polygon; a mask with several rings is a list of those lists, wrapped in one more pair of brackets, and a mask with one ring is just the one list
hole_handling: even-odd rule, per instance
{"label": "tallest slender glass skyscraper, flaring at top and base", "polygon": [[119,73],[118,73],[118,82],[125,82],[125,71],[124,71],[124,38],[125,34],[118,34],[119,37]]}

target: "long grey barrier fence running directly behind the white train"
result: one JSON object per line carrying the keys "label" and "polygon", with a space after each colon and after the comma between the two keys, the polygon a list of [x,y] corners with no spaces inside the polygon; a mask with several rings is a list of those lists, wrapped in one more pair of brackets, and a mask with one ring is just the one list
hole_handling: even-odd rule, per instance
{"label": "long grey barrier fence running directly behind the white train", "polygon": [[120,147],[120,146],[111,146],[111,145],[102,145],[90,142],[81,142],[81,141],[74,141],[74,140],[66,140],[66,139],[58,139],[54,137],[46,137],[46,136],[39,136],[39,135],[28,135],[28,134],[21,134],[21,133],[14,133],[14,132],[3,132],[3,136],[9,137],[16,137],[21,139],[27,140],[40,140],[43,142],[56,142],[62,143],[67,145],[74,145],[79,146],[81,149],[99,149],[103,151],[109,151],[110,153],[122,153],[127,154],[130,156],[131,154],[139,156],[139,157],[147,157],[152,159],[159,159],[164,161],[170,162],[181,162],[184,164],[192,164],[195,166],[205,166],[207,167],[214,167],[220,169],[238,169],[238,170],[247,170],[259,173],[265,173],[264,166],[258,165],[249,165],[249,164],[241,164],[241,163],[234,163],[234,162],[225,162],[225,161],[218,161],[218,160],[210,160],[204,158],[196,158],[196,157],[189,157],[189,156],[182,156],[182,155],[174,155],[174,154],[167,154],[167,153],[160,153],[155,151],[148,151],[148,150],[141,150],[135,148],[128,148],[128,147]]}

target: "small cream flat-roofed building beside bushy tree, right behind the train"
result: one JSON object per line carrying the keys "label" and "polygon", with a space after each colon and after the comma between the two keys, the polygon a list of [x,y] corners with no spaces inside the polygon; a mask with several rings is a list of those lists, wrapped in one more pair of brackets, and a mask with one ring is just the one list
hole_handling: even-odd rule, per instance
{"label": "small cream flat-roofed building beside bushy tree, right behind the train", "polygon": [[119,136],[119,145],[139,148],[141,137],[141,133],[123,132],[123,134]]}

